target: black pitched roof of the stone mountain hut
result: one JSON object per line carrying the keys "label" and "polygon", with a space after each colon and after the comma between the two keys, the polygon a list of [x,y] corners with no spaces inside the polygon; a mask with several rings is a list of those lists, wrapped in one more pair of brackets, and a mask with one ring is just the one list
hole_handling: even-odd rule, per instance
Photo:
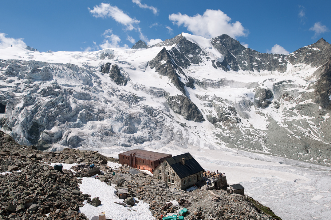
{"label": "black pitched roof of the stone mountain hut", "polygon": [[[185,159],[185,165],[182,163],[182,158]],[[172,167],[175,173],[177,173],[179,178],[184,178],[204,170],[190,153],[166,158],[166,161]]]}

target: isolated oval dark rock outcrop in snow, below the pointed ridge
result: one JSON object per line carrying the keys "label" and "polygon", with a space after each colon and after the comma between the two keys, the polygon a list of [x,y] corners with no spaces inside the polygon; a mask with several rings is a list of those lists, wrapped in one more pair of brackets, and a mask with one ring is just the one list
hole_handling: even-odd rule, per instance
{"label": "isolated oval dark rock outcrop in snow, below the pointed ridge", "polygon": [[194,122],[205,121],[198,107],[184,95],[169,96],[167,98],[170,108],[186,120]]}

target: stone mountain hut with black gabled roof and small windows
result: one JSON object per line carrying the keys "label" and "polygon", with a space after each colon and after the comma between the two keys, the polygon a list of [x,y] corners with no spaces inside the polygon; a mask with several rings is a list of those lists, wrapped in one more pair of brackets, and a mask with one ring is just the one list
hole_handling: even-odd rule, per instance
{"label": "stone mountain hut with black gabled roof and small windows", "polygon": [[153,176],[170,188],[187,189],[203,179],[204,169],[190,153],[166,158],[154,170]]}

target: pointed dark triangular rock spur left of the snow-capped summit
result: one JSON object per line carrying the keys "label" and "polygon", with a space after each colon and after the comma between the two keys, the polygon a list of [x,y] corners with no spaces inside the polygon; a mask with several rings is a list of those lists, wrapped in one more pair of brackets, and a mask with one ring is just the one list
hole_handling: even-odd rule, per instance
{"label": "pointed dark triangular rock spur left of the snow-capped summit", "polygon": [[183,73],[183,71],[172,61],[172,58],[165,47],[158,53],[158,55],[149,62],[151,69],[155,68],[155,71],[162,76],[167,76],[171,79],[171,83],[176,88],[185,94],[185,84],[180,81],[177,72]]}

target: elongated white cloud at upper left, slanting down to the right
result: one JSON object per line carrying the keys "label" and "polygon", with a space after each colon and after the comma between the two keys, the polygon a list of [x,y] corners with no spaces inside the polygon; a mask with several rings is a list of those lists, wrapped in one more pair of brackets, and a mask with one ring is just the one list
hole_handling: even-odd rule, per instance
{"label": "elongated white cloud at upper left, slanting down to the right", "polygon": [[88,8],[88,10],[95,17],[112,17],[118,23],[125,25],[127,30],[135,29],[133,25],[140,22],[139,20],[131,18],[125,14],[117,6],[112,6],[107,3],[101,3],[100,5],[94,6],[92,10],[90,8]]}

